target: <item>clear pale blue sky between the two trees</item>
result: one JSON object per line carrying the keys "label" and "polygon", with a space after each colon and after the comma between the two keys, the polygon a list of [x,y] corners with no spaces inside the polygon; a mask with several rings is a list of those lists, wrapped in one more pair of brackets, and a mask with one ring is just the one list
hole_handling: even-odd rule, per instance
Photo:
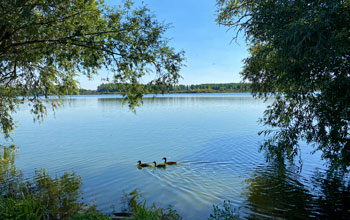
{"label": "clear pale blue sky between the two trees", "polygon": [[[135,0],[140,3],[141,0]],[[120,3],[106,0],[108,5]],[[242,80],[242,60],[248,56],[245,41],[232,41],[235,32],[215,23],[215,0],[143,0],[157,20],[170,23],[166,37],[176,51],[185,51],[180,84],[230,83]],[[107,73],[99,71],[93,80],[80,76],[80,86],[96,89]],[[147,81],[147,77],[145,77]]]}

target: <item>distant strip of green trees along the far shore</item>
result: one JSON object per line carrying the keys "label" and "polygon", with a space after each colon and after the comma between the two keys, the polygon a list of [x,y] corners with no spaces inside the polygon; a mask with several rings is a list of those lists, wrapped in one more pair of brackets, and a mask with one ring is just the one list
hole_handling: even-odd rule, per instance
{"label": "distant strip of green trees along the far shore", "polygon": [[[79,95],[102,95],[125,93],[122,84],[102,83],[96,90],[80,89]],[[154,93],[246,93],[251,92],[250,83],[208,83],[198,85],[151,86],[143,85],[144,94]],[[76,94],[75,94],[76,95]]]}

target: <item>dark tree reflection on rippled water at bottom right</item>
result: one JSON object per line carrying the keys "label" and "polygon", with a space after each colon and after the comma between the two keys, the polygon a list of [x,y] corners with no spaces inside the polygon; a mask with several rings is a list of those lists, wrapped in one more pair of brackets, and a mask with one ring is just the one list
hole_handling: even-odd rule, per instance
{"label": "dark tree reflection on rippled water at bottom right", "polygon": [[349,176],[316,170],[311,179],[276,164],[260,167],[247,180],[247,219],[349,219]]}

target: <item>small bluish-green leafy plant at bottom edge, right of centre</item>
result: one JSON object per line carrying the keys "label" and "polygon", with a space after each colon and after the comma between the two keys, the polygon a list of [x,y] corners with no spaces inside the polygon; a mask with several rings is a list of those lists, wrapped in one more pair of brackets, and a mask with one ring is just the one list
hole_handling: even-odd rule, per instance
{"label": "small bluish-green leafy plant at bottom edge, right of centre", "polygon": [[224,201],[222,207],[213,205],[213,214],[210,215],[209,220],[234,220],[239,218],[239,209],[234,208],[231,201]]}

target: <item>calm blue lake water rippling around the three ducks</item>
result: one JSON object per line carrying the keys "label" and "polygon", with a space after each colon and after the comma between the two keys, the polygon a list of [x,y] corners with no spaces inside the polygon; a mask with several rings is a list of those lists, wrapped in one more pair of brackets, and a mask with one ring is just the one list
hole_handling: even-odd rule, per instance
{"label": "calm blue lake water rippling around the three ducks", "polygon": [[[173,205],[184,219],[206,219],[224,200],[246,219],[346,219],[349,185],[309,146],[301,173],[265,162],[257,120],[266,105],[249,94],[167,95],[146,98],[135,115],[118,96],[75,96],[42,124],[23,107],[16,164],[28,178],[36,168],[77,172],[85,199],[105,212],[123,191],[139,189],[149,204]],[[164,156],[179,165],[136,167]]]}

